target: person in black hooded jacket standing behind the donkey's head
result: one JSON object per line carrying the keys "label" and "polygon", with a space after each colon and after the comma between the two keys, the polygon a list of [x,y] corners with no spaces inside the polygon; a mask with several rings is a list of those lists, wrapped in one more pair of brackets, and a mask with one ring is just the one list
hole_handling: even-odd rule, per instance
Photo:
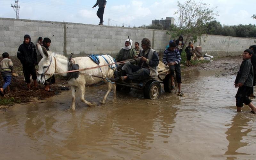
{"label": "person in black hooded jacket standing behind the donkey's head", "polygon": [[36,46],[31,42],[29,35],[24,36],[23,44],[20,44],[17,52],[17,58],[22,64],[23,74],[25,82],[28,85],[28,89],[30,89],[30,75],[34,81],[34,86],[37,87],[35,68],[35,65],[37,65]]}

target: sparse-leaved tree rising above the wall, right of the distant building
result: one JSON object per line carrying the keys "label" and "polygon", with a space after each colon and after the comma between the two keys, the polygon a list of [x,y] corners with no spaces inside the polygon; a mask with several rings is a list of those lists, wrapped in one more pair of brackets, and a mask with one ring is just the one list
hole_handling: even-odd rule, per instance
{"label": "sparse-leaved tree rising above the wall, right of the distant building", "polygon": [[205,32],[205,24],[214,20],[214,16],[218,15],[215,8],[209,8],[209,5],[195,0],[187,0],[184,4],[178,3],[178,11],[174,14],[178,15],[178,26],[167,34],[172,37],[184,36],[184,43],[194,41],[202,36]]}

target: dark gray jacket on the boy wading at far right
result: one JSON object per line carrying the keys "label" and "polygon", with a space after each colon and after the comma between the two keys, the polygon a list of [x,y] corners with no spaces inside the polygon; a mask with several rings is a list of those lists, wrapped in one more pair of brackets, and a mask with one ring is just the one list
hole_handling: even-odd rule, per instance
{"label": "dark gray jacket on the boy wading at far right", "polygon": [[252,87],[253,67],[251,60],[244,60],[237,73],[235,84],[242,83],[245,86]]}

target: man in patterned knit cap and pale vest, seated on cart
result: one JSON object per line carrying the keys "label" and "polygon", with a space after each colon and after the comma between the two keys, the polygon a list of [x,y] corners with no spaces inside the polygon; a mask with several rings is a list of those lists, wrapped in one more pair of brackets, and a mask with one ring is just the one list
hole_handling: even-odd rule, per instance
{"label": "man in patterned knit cap and pale vest, seated on cart", "polygon": [[151,48],[150,40],[148,38],[143,38],[141,41],[142,51],[138,57],[138,65],[132,65],[130,63],[125,63],[122,70],[127,73],[126,76],[121,76],[119,79],[124,80],[143,80],[147,79],[149,76],[157,76],[157,66],[159,63],[158,53]]}

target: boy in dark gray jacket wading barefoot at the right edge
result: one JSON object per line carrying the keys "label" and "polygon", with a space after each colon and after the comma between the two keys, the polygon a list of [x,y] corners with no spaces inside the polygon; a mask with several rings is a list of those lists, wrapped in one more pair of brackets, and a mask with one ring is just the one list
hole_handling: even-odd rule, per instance
{"label": "boy in dark gray jacket wading barefoot at the right edge", "polygon": [[252,101],[249,99],[250,94],[252,93],[252,84],[253,84],[253,67],[251,62],[253,51],[245,50],[243,53],[243,62],[240,66],[239,72],[237,73],[235,80],[235,87],[239,87],[236,93],[236,107],[237,112],[241,112],[243,103],[248,105],[252,109],[252,113],[256,113],[256,108],[252,104]]}

